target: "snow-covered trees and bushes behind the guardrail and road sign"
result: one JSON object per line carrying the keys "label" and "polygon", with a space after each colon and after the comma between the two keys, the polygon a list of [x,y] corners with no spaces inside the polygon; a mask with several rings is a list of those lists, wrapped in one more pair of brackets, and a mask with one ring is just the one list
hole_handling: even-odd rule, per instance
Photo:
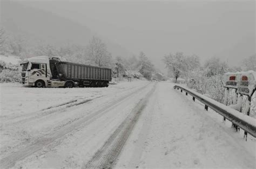
{"label": "snow-covered trees and bushes behind the guardrail and road sign", "polygon": [[223,87],[224,73],[256,71],[256,55],[245,58],[240,67],[230,67],[217,57],[211,57],[201,65],[198,56],[185,56],[182,52],[170,53],[164,56],[163,61],[169,70],[169,77],[173,77],[175,83],[178,78],[183,78],[191,89],[202,94],[209,94],[221,103],[225,91]]}

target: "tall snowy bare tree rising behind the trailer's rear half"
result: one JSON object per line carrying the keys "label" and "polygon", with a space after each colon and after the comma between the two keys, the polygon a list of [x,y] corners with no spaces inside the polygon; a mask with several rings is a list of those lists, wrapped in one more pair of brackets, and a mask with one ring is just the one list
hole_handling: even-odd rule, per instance
{"label": "tall snowy bare tree rising behind the trailer's rear half", "polygon": [[107,66],[111,63],[111,54],[107,51],[106,44],[93,36],[87,45],[87,56],[97,66]]}

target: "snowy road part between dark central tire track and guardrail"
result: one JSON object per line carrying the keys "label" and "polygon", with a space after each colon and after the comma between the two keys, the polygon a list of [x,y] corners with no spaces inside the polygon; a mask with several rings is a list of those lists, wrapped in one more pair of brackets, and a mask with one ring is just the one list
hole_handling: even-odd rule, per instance
{"label": "snowy road part between dark central tire track and guardrail", "polygon": [[255,142],[172,86],[158,83],[116,168],[256,168]]}

